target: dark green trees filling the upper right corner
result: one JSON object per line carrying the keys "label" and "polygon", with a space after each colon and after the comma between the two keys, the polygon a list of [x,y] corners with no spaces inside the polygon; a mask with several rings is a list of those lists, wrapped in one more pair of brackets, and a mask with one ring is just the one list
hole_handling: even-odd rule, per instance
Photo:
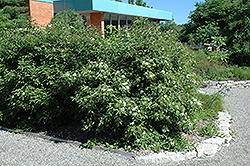
{"label": "dark green trees filling the upper right corner", "polygon": [[180,39],[203,45],[211,43],[212,37],[222,37],[231,53],[230,60],[250,65],[250,1],[205,0],[195,6]]}

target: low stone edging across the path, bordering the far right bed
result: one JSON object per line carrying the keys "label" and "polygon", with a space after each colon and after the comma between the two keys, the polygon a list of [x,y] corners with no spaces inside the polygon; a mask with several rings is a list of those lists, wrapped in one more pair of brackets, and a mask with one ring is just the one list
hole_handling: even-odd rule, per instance
{"label": "low stone edging across the path, bordering the far right bed", "polygon": [[202,83],[203,87],[207,88],[222,88],[222,87],[227,87],[227,88],[250,88],[250,80],[246,81],[233,81],[233,80],[228,80],[228,81],[204,81]]}

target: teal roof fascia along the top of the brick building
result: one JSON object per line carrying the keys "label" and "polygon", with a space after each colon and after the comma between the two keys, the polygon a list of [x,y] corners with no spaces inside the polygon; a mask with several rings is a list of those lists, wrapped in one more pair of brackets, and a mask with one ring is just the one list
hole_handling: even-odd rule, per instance
{"label": "teal roof fascia along the top of the brick building", "polygon": [[75,11],[100,11],[159,20],[172,20],[171,12],[111,0],[56,0],[53,3],[55,13],[73,9]]}

